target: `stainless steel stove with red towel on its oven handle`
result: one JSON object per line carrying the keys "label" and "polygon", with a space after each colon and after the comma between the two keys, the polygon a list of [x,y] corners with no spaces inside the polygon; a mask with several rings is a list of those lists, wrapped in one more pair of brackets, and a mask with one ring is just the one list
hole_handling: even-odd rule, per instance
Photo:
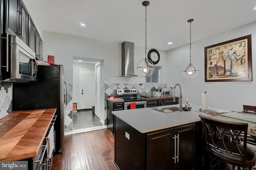
{"label": "stainless steel stove with red towel on its oven handle", "polygon": [[135,103],[136,109],[146,108],[146,99],[137,97],[137,89],[118,89],[116,90],[116,97],[124,100],[124,109],[131,109],[131,103]]}

